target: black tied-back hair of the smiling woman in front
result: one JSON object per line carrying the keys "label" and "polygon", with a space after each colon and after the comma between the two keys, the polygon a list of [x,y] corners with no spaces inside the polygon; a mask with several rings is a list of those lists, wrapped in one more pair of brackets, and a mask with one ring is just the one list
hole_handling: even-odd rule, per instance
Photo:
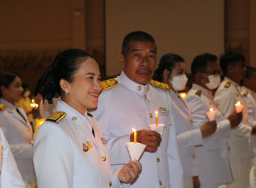
{"label": "black tied-back hair of the smiling woman in front", "polygon": [[69,49],[58,54],[44,75],[38,80],[34,95],[42,94],[42,99],[52,103],[53,97],[61,96],[59,81],[65,79],[69,83],[73,81],[73,75],[79,70],[79,64],[88,57],[88,52],[81,49]]}

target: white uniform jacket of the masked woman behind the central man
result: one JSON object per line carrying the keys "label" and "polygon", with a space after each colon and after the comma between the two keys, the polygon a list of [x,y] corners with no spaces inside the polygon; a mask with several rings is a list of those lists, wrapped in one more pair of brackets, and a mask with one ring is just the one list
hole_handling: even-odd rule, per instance
{"label": "white uniform jacket of the masked woman behind the central man", "polygon": [[[191,109],[179,93],[170,89],[170,102],[172,104],[172,123],[177,132],[179,156],[183,164],[183,177],[198,176],[195,161],[195,145],[203,144],[201,130],[193,130],[193,117]],[[168,150],[168,152],[172,152]]]}

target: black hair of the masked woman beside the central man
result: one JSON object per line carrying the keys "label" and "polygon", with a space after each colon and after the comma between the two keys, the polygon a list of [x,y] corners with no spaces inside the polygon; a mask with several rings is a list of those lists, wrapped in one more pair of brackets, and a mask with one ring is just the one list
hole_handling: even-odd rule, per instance
{"label": "black hair of the masked woman beside the central man", "polygon": [[158,68],[154,73],[153,79],[156,81],[162,82],[164,69],[167,69],[168,71],[170,71],[170,74],[171,74],[172,69],[175,68],[178,62],[185,62],[185,60],[177,54],[165,54],[164,56],[162,56],[158,64]]}

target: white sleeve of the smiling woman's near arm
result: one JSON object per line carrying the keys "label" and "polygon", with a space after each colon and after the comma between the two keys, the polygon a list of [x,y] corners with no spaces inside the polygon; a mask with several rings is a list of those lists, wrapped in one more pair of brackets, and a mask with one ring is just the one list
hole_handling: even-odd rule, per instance
{"label": "white sleeve of the smiling woman's near arm", "polygon": [[61,128],[44,123],[36,134],[33,162],[40,188],[73,187],[73,154]]}

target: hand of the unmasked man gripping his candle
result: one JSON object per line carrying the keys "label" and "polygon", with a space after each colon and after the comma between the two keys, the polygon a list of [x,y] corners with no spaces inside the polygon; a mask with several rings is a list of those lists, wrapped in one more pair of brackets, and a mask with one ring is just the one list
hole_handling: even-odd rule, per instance
{"label": "hand of the unmasked man gripping his candle", "polygon": [[[134,141],[134,134],[130,136],[130,142]],[[156,152],[162,141],[161,135],[154,130],[138,130],[137,131],[137,142],[146,145],[146,152]]]}

